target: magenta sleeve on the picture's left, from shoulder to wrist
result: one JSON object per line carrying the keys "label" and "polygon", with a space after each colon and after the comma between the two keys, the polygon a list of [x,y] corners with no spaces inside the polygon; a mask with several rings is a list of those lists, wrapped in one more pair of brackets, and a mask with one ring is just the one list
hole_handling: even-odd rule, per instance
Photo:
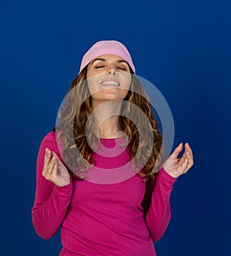
{"label": "magenta sleeve on the picture's left, from shoulder to wrist", "polygon": [[[60,153],[55,136],[45,136],[39,148],[36,165],[35,203],[32,207],[32,223],[39,236],[49,239],[59,231],[72,196],[72,180],[70,184],[59,187],[42,176],[45,148]],[[61,158],[60,158],[61,159]]]}

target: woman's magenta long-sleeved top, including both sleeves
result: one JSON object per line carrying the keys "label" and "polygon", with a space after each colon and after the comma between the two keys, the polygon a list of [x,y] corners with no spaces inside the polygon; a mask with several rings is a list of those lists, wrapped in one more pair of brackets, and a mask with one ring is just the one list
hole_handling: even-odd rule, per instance
{"label": "woman's magenta long-sleeved top, including both sleeves", "polygon": [[[116,147],[115,139],[101,141],[107,148]],[[39,148],[32,222],[45,239],[62,227],[59,255],[156,255],[153,242],[169,224],[175,178],[161,168],[156,180],[146,183],[136,174],[115,184],[72,179],[69,185],[58,187],[42,176],[46,147],[62,160],[52,131]],[[125,166],[129,156],[128,147],[115,157],[93,153],[95,166],[105,169]]]}

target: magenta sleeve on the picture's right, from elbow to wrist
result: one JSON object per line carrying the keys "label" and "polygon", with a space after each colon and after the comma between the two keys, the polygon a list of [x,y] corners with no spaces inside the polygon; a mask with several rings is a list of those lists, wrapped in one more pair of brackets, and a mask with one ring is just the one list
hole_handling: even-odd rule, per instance
{"label": "magenta sleeve on the picture's right, from elbow to wrist", "polygon": [[152,192],[149,210],[146,213],[146,225],[152,241],[156,242],[162,237],[171,218],[170,194],[176,178],[161,167],[157,174],[156,184]]}

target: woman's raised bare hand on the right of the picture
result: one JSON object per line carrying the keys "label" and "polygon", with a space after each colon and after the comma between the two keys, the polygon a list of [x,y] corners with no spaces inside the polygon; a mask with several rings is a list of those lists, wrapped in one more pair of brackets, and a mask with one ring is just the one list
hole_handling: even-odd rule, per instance
{"label": "woman's raised bare hand on the right of the picture", "polygon": [[189,143],[185,144],[185,153],[181,158],[177,158],[182,151],[182,143],[173,151],[165,163],[163,163],[163,169],[169,173],[170,176],[177,178],[180,175],[186,173],[193,165],[192,150],[189,147]]}

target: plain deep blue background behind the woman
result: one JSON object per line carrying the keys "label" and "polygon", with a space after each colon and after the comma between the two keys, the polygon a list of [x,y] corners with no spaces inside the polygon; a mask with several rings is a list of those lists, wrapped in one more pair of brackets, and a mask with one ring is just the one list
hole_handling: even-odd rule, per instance
{"label": "plain deep blue background behind the woman", "polygon": [[39,145],[85,51],[117,39],[169,103],[174,147],[189,142],[194,153],[157,254],[231,255],[230,2],[22,0],[0,10],[0,254],[59,254],[60,234],[45,241],[32,227]]}

